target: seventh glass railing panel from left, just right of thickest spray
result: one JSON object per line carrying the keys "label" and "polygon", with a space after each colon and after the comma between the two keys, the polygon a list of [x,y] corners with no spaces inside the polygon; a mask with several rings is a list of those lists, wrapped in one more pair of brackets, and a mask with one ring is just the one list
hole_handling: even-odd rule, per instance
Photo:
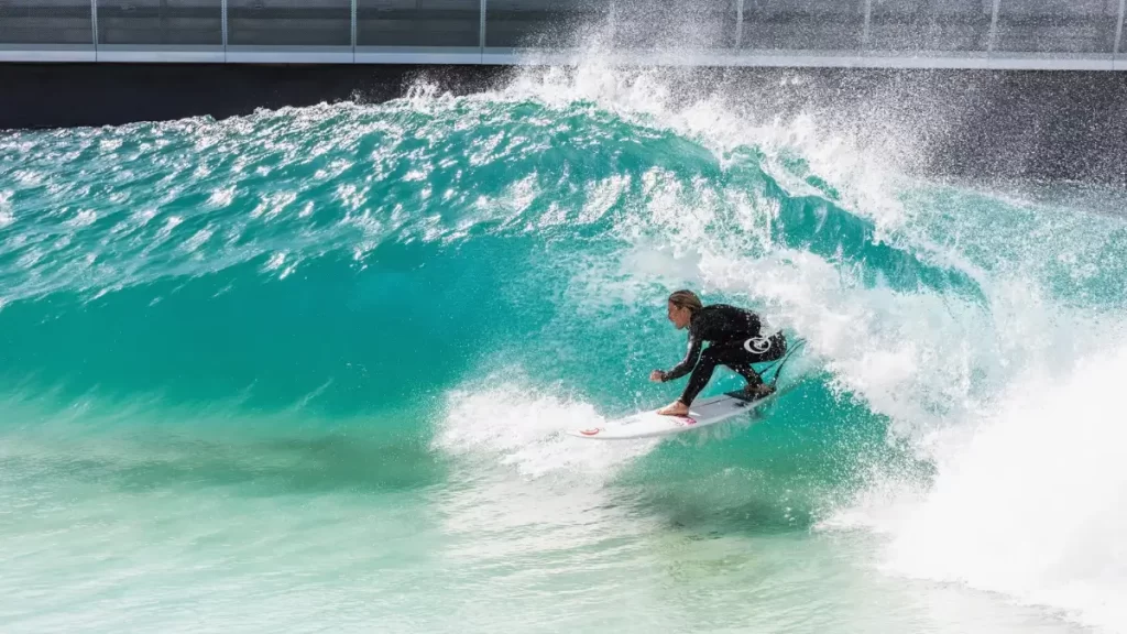
{"label": "seventh glass railing panel from left, just right of thickest spray", "polygon": [[743,49],[859,50],[863,33],[864,0],[744,0]]}

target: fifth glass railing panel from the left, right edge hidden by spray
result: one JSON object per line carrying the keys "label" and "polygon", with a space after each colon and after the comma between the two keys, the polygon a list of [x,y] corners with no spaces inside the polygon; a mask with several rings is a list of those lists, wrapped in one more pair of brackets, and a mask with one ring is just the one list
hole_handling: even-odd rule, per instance
{"label": "fifth glass railing panel from the left, right edge hidden by spray", "polygon": [[575,49],[604,28],[611,0],[489,0],[486,46]]}

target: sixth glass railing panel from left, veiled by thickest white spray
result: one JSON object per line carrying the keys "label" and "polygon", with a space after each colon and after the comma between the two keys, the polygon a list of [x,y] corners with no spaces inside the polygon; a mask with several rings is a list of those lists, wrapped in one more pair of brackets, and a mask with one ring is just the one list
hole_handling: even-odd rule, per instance
{"label": "sixth glass railing panel from left, veiled by thickest white spray", "polygon": [[738,0],[614,0],[620,49],[731,49]]}

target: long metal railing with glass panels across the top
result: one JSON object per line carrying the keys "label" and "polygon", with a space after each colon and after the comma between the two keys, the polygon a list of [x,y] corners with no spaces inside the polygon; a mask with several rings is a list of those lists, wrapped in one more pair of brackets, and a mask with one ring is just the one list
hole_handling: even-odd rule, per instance
{"label": "long metal railing with glass panels across the top", "polygon": [[0,61],[1122,70],[1125,3],[0,0]]}

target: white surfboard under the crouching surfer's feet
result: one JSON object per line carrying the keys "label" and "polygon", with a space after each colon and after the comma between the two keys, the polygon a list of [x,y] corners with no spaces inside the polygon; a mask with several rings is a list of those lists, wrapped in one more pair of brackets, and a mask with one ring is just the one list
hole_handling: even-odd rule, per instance
{"label": "white surfboard under the crouching surfer's feet", "polygon": [[771,403],[786,389],[775,389],[771,394],[749,400],[738,393],[727,393],[708,398],[698,398],[689,408],[686,416],[666,416],[657,410],[606,421],[589,428],[568,430],[568,434],[593,440],[631,440],[636,438],[654,438],[698,430],[727,421],[733,416],[746,414],[766,403]]}

